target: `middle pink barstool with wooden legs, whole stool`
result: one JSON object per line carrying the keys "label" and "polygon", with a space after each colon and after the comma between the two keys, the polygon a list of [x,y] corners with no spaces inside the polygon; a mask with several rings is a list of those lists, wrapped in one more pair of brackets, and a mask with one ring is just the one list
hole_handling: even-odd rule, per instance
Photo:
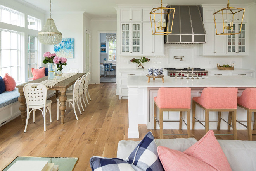
{"label": "middle pink barstool with wooden legs, whole stool", "polygon": [[[195,118],[195,105],[200,106],[205,110],[205,120],[200,121]],[[220,121],[221,119],[226,122],[230,127],[233,128],[233,134],[215,134],[215,135],[234,135],[234,139],[237,139],[237,129],[236,129],[236,112],[237,112],[237,88],[216,88],[216,87],[208,87],[202,90],[201,96],[193,97],[192,102],[192,130],[195,128],[195,120],[202,124],[205,122],[206,132],[209,130],[209,111],[217,111],[218,112],[218,121],[210,121],[210,122],[218,122],[217,129],[220,130]],[[221,118],[221,112],[229,112],[228,122]],[[233,119],[233,123],[231,125],[231,117]]]}

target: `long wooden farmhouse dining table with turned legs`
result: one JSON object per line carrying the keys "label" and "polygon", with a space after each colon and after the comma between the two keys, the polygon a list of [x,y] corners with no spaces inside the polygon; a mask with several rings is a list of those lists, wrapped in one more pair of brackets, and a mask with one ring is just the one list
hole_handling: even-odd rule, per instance
{"label": "long wooden farmhouse dining table with turned legs", "polygon": [[[67,100],[67,96],[66,96],[66,91],[67,88],[69,88],[71,85],[73,85],[76,80],[80,77],[82,77],[84,74],[86,73],[77,73],[69,78],[67,78],[66,80],[63,80],[59,83],[57,83],[55,86],[53,86],[52,88],[50,88],[49,90],[55,90],[56,91],[56,98],[59,95],[59,91],[60,91],[60,97],[59,100],[61,102],[60,105],[60,110],[61,110],[61,124],[64,124],[64,118],[65,118],[65,110],[66,110],[66,100]],[[27,83],[40,83],[42,81],[48,80],[48,76],[45,76],[43,78],[39,78],[37,80],[33,80],[33,81],[29,81]],[[16,86],[16,88],[19,88],[19,98],[18,101],[20,103],[19,105],[19,110],[21,111],[21,120],[22,120],[22,125],[25,124],[25,119],[26,119],[26,99],[24,96],[24,92],[23,92],[23,87],[24,85],[26,85],[27,83],[24,83],[22,85],[18,85]]]}

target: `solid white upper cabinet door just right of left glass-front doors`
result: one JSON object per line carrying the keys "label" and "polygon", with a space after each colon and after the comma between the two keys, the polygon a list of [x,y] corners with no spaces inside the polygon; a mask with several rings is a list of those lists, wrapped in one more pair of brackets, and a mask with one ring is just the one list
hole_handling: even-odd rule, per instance
{"label": "solid white upper cabinet door just right of left glass-front doors", "polygon": [[142,54],[152,55],[153,54],[153,36],[150,23],[143,23],[143,39],[142,39]]}

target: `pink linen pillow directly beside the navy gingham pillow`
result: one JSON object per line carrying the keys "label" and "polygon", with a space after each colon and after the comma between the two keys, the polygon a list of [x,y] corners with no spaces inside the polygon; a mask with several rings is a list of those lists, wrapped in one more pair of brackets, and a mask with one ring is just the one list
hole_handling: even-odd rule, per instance
{"label": "pink linen pillow directly beside the navy gingham pillow", "polygon": [[184,154],[178,150],[172,150],[164,146],[158,146],[157,152],[164,170],[166,171],[216,171],[209,164],[199,159]]}

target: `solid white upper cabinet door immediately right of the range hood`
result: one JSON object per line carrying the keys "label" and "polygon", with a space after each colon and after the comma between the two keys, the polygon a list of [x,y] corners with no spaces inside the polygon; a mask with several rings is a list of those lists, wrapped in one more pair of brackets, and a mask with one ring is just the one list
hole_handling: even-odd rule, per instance
{"label": "solid white upper cabinet door immediately right of the range hood", "polygon": [[204,28],[206,31],[206,43],[203,45],[204,53],[215,54],[215,25],[214,23],[205,23]]}

